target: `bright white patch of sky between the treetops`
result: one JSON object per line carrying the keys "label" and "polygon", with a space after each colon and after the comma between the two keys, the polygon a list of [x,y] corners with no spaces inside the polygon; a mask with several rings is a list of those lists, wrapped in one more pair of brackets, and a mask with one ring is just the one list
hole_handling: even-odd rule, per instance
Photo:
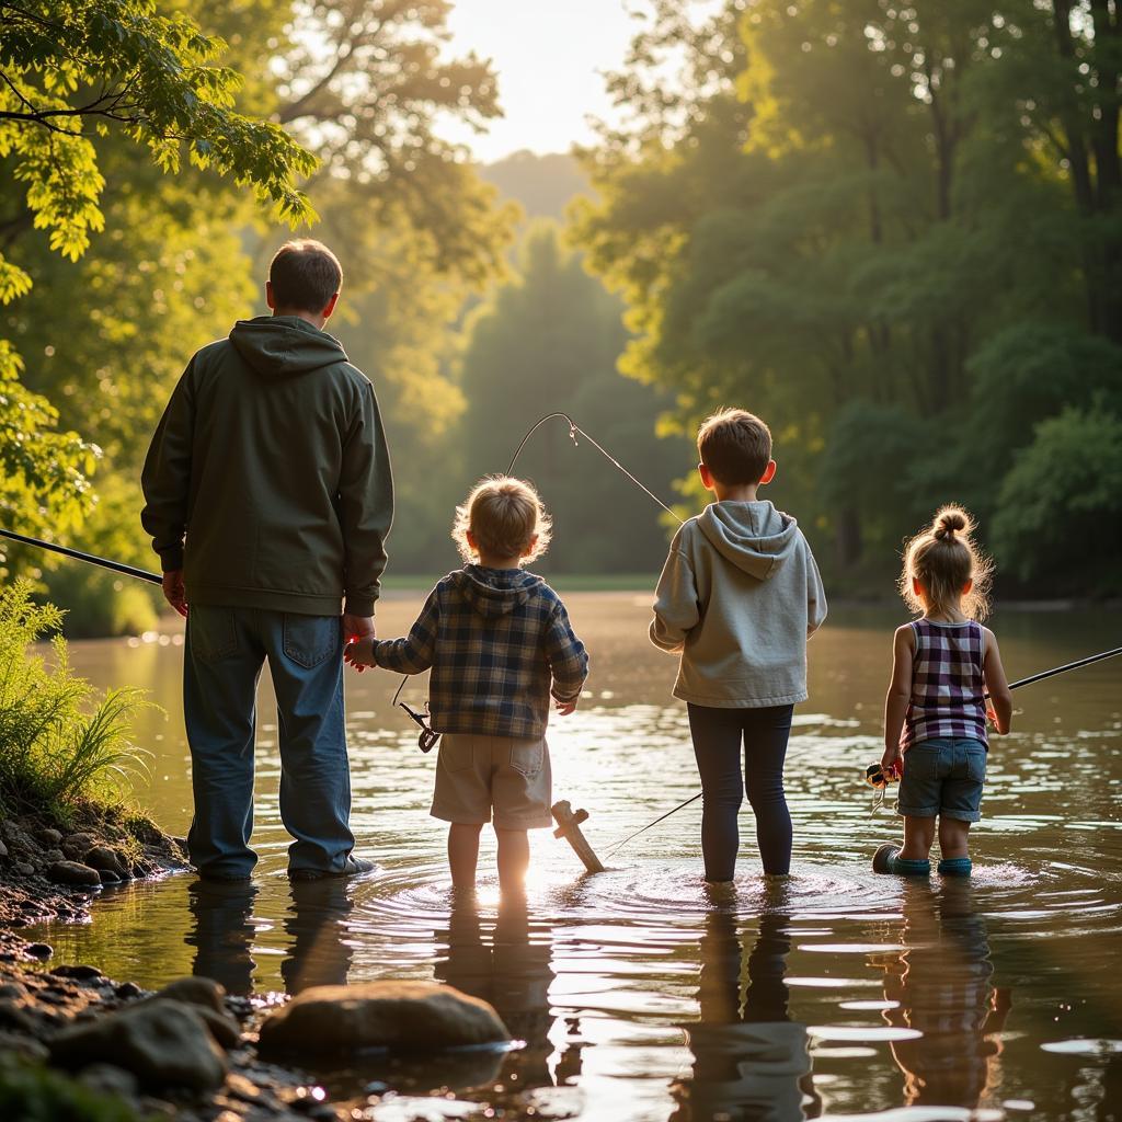
{"label": "bright white patch of sky between the treetops", "polygon": [[641,26],[625,2],[642,7],[636,0],[457,0],[450,49],[493,59],[506,116],[484,136],[453,138],[485,163],[519,148],[567,151],[590,140],[586,117],[613,116],[600,72],[618,68]]}

